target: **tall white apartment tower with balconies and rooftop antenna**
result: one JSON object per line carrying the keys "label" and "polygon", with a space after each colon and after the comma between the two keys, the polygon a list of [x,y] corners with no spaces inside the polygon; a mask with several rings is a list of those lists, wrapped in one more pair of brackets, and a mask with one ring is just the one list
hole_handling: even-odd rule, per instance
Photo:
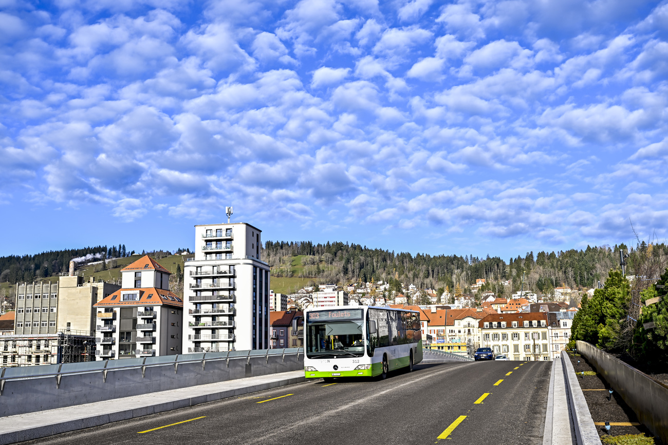
{"label": "tall white apartment tower with balconies and rooftop antenna", "polygon": [[195,256],[184,264],[184,352],[269,348],[269,264],[260,260],[260,235],[246,223],[195,226]]}

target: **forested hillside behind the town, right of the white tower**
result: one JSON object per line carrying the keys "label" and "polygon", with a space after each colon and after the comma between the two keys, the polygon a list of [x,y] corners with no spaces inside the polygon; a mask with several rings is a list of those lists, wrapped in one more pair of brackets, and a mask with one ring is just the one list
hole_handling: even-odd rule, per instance
{"label": "forested hillside behind the town, right of the white tower", "polygon": [[[418,288],[445,288],[451,290],[459,285],[462,290],[485,278],[486,288],[504,294],[499,282],[512,280],[512,290],[524,289],[550,294],[559,286],[570,288],[592,288],[598,280],[605,282],[608,272],[619,266],[619,250],[630,254],[627,259],[627,274],[633,274],[633,259],[637,250],[649,250],[651,255],[668,255],[668,246],[648,246],[642,242],[636,249],[621,244],[589,247],[585,250],[566,252],[527,252],[524,256],[511,258],[508,262],[498,257],[479,258],[473,255],[438,255],[389,252],[369,249],[359,244],[327,242],[313,244],[304,242],[267,242],[263,259],[271,265],[273,276],[293,276],[292,256],[303,255],[304,267],[301,276],[319,278],[321,282],[343,283],[383,280],[399,280],[404,284],[415,284]],[[483,288],[485,290],[485,288]]]}

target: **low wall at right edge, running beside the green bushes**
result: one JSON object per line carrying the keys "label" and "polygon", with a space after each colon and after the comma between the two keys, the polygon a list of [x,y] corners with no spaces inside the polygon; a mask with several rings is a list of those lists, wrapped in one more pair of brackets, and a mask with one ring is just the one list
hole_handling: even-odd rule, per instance
{"label": "low wall at right edge, running beside the green bushes", "polygon": [[576,342],[576,348],[619,393],[638,420],[668,445],[668,387],[587,342]]}

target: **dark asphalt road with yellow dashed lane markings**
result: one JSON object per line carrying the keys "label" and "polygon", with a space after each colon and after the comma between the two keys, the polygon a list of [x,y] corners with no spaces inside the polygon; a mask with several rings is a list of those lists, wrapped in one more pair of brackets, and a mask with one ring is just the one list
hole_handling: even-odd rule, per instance
{"label": "dark asphalt road with yellow dashed lane markings", "polygon": [[420,364],[387,380],[305,382],[24,443],[539,444],[551,364]]}

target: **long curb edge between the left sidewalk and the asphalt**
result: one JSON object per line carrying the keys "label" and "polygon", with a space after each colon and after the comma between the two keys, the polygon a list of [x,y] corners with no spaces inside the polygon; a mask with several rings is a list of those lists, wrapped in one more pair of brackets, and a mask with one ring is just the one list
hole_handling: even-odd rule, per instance
{"label": "long curb edge between the left sidewalk and the asphalt", "polygon": [[214,402],[216,400],[241,396],[251,392],[271,390],[273,388],[278,388],[279,386],[293,385],[305,381],[305,376],[285,378],[283,380],[276,380],[274,382],[244,386],[241,388],[212,392],[211,394],[194,397],[177,398],[174,400],[169,400],[168,402],[146,404],[144,406],[137,406],[135,408],[117,410],[105,414],[77,418],[74,420],[67,420],[65,422],[53,422],[51,424],[25,428],[23,430],[0,432],[0,445],[8,445],[15,442],[24,442],[25,440],[39,439],[47,436],[53,436],[53,434],[82,430],[83,428],[92,428],[94,426],[101,426],[111,422],[119,422],[120,420],[128,420],[132,418],[148,416],[149,414],[156,414],[158,412],[186,408],[187,406],[194,406],[206,402]]}

